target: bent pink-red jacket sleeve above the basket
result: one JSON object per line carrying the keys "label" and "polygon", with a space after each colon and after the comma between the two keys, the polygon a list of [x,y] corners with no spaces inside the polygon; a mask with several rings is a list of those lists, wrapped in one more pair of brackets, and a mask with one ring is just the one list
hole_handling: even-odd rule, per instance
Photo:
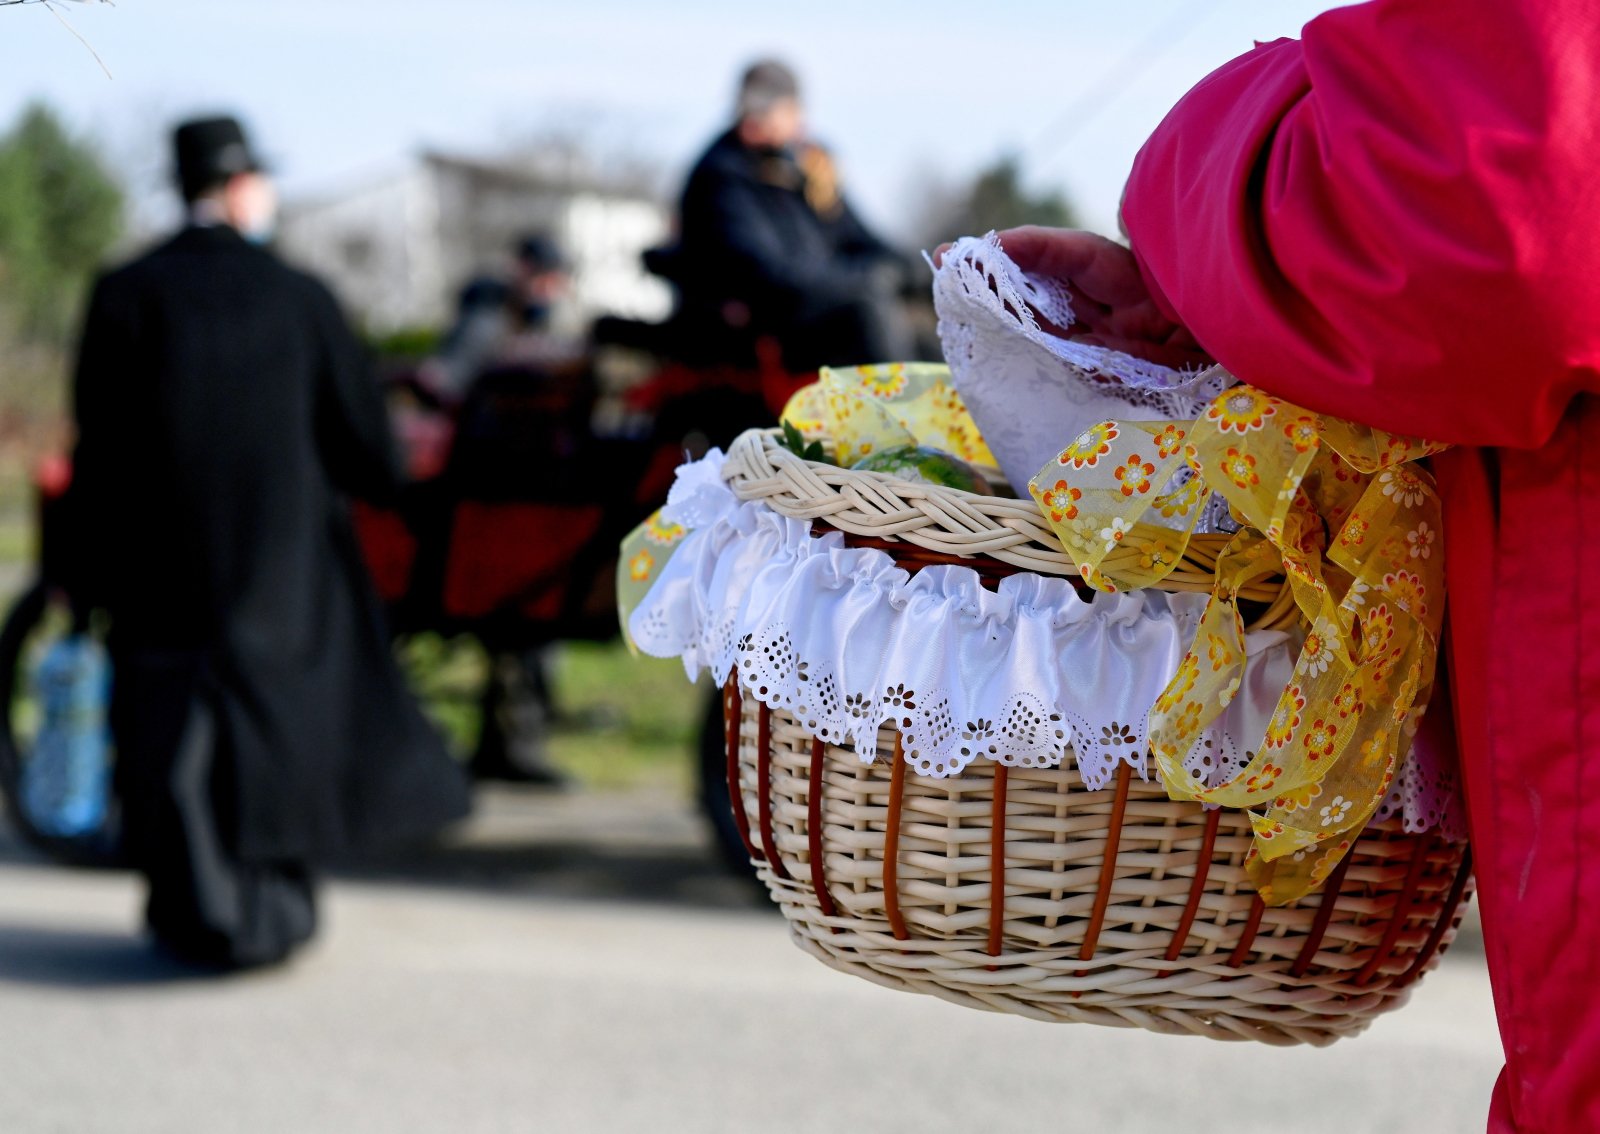
{"label": "bent pink-red jacket sleeve above the basket", "polygon": [[1600,8],[1376,0],[1221,67],[1134,162],[1157,299],[1238,377],[1464,445],[1600,389]]}

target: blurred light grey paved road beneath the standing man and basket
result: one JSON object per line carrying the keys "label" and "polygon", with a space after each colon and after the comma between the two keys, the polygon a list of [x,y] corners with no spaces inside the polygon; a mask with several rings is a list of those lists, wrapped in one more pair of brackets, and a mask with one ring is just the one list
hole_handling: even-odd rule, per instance
{"label": "blurred light grey paved road beneath the standing man and basket", "polygon": [[128,878],[0,848],[0,1131],[1469,1134],[1499,1064],[1469,948],[1326,1051],[888,992],[794,948],[661,801],[491,797],[326,897],[298,963],[192,980],[130,936]]}

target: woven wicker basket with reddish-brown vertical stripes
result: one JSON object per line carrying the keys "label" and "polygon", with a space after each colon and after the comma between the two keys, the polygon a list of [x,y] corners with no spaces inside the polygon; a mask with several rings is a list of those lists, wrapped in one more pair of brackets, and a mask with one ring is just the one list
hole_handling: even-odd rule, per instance
{"label": "woven wicker basket with reddish-brown vertical stripes", "polygon": [[[765,433],[733,445],[725,475],[741,499],[912,571],[1070,574],[1027,502],[810,464]],[[1194,576],[1219,542],[1197,537]],[[1272,584],[1251,598],[1258,625],[1283,621]],[[1088,790],[1072,761],[978,761],[933,779],[901,760],[893,728],[867,765],[736,678],[725,697],[734,819],[795,940],[888,987],[1042,1020],[1326,1044],[1405,1003],[1472,889],[1464,846],[1387,821],[1322,894],[1269,908],[1245,875],[1245,816],[1173,801],[1154,776],[1123,766]]]}

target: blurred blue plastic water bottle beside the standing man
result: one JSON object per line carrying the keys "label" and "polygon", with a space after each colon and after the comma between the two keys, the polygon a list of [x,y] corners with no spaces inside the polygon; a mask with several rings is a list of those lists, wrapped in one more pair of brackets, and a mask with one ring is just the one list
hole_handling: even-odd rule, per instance
{"label": "blurred blue plastic water bottle beside the standing man", "polygon": [[45,835],[93,833],[110,800],[110,659],[94,638],[61,638],[40,657],[32,685],[42,720],[22,765],[22,809]]}

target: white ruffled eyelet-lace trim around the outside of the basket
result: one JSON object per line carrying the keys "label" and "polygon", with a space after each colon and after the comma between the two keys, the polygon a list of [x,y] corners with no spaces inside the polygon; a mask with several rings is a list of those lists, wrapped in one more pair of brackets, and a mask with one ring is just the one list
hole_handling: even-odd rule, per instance
{"label": "white ruffled eyelet-lace trim around the outside of the basket", "polygon": [[[738,672],[746,696],[792,712],[813,734],[877,755],[878,726],[899,728],[906,761],[954,776],[973,760],[1053,768],[1074,752],[1090,787],[1118,765],[1149,777],[1146,715],[1184,656],[1205,595],[1094,595],[1066,579],[1016,574],[998,592],[970,568],[915,576],[883,552],[813,536],[810,521],[742,504],[722,453],[678,472],[664,518],[690,528],[629,619],[634,641],[682,657],[690,678]],[[1232,705],[1187,768],[1221,782],[1266,733],[1299,643],[1246,637],[1251,662]],[[1426,766],[1418,766],[1426,765]],[[1379,817],[1445,825],[1453,777],[1408,763]]]}

